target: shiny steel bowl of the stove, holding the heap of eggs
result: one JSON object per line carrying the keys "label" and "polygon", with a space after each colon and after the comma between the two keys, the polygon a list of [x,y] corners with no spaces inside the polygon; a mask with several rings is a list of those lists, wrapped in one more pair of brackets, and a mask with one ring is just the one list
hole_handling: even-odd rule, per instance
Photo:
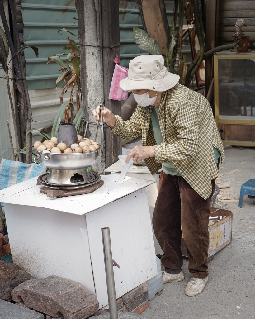
{"label": "shiny steel bowl of the stove, holding the heap of eggs", "polygon": [[102,146],[96,151],[73,154],[44,153],[36,151],[36,157],[40,164],[47,168],[59,170],[87,168],[96,163],[101,148]]}

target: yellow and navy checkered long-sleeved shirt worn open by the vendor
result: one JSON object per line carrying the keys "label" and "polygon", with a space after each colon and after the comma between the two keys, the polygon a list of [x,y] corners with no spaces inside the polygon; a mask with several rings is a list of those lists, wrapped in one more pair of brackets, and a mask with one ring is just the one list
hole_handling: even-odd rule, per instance
{"label": "yellow and navy checkered long-sleeved shirt worn open by the vendor", "polygon": [[225,158],[221,137],[208,100],[177,84],[163,92],[158,119],[164,143],[156,145],[150,118],[152,106],[138,105],[130,120],[115,115],[114,134],[135,139],[142,134],[142,146],[154,146],[155,157],[144,159],[151,174],[161,163],[171,161],[181,176],[204,199],[212,193],[211,180],[218,176],[213,146]]}

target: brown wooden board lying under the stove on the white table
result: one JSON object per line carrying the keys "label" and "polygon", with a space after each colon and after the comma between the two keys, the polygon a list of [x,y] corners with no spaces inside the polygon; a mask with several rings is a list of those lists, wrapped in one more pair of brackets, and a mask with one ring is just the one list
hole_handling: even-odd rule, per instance
{"label": "brown wooden board lying under the stove on the white table", "polygon": [[50,187],[44,186],[40,189],[40,192],[46,194],[47,197],[66,197],[74,195],[83,195],[92,193],[94,190],[98,189],[104,184],[104,181],[100,180],[96,184],[86,186],[84,188],[62,190],[62,189],[52,189]]}

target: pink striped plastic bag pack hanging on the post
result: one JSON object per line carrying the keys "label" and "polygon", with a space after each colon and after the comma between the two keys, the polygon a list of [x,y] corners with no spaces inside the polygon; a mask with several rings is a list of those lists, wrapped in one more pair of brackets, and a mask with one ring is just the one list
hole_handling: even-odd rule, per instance
{"label": "pink striped plastic bag pack hanging on the post", "polygon": [[115,68],[113,71],[113,78],[108,98],[117,101],[127,100],[128,91],[123,91],[121,89],[120,80],[128,76],[128,68],[125,68],[124,66],[117,64],[120,62],[117,55],[115,56],[113,62],[115,63]]}

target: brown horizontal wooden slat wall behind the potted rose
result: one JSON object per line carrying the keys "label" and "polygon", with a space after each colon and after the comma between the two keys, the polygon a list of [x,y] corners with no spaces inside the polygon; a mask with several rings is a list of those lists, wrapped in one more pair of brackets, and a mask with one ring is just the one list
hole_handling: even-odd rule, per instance
{"label": "brown horizontal wooden slat wall behind the potted rose", "polygon": [[236,32],[237,19],[244,19],[244,34],[255,42],[255,1],[219,0],[218,45],[232,42],[229,37]]}

